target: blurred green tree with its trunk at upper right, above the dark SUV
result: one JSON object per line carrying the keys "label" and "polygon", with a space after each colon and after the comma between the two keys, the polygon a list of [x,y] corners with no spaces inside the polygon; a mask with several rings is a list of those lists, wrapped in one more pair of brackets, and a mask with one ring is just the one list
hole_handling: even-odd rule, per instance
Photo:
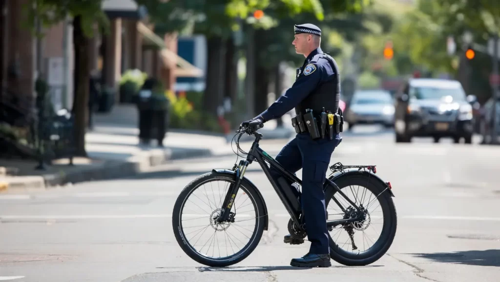
{"label": "blurred green tree with its trunk at upper right, above the dark SUV", "polygon": [[[399,71],[427,68],[430,73],[448,72],[456,76],[468,92],[482,100],[490,95],[487,83],[491,57],[477,53],[472,61],[464,57],[463,34],[471,32],[475,43],[486,45],[500,31],[500,2],[489,0],[418,0],[414,9],[403,14],[392,30]],[[446,51],[452,36],[457,50]],[[466,68],[471,67],[466,71]],[[480,97],[481,99],[481,97]]]}

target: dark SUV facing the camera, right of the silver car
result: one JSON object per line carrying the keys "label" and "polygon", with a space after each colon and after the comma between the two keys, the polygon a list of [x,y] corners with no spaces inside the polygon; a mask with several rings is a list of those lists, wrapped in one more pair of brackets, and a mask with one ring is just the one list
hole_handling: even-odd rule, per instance
{"label": "dark SUV facing the camera, right of the silver car", "polygon": [[[460,82],[448,79],[410,78],[396,93],[394,131],[396,142],[412,136],[460,138],[472,142],[472,106]],[[470,99],[469,99],[470,100]]]}

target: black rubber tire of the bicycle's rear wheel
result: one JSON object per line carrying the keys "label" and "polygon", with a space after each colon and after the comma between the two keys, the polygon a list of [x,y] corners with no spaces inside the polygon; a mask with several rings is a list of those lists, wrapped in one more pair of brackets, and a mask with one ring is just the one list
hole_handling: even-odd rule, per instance
{"label": "black rubber tire of the bicycle's rear wheel", "polygon": [[[383,186],[378,181],[374,181],[373,178],[370,178],[365,174],[344,175],[335,179],[334,182],[340,189],[348,187],[349,185],[363,186],[375,195],[378,195],[385,189],[385,186]],[[333,189],[333,187],[328,184],[325,189],[326,206],[328,205],[335,192],[336,191]],[[380,232],[380,237],[373,244],[374,248],[370,248],[360,253],[350,253],[340,248],[328,233],[331,259],[347,266],[364,266],[377,261],[387,252],[395,237],[397,227],[397,212],[390,193],[386,191],[382,192],[380,195],[378,195],[378,200],[380,202],[382,210],[384,211],[384,223],[382,231]]]}

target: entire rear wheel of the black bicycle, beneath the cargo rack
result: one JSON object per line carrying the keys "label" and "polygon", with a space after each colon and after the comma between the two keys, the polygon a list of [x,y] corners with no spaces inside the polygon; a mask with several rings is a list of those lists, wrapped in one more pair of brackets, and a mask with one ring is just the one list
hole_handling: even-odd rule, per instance
{"label": "entire rear wheel of the black bicycle, beneath the cargo rack", "polygon": [[[364,174],[341,176],[335,184],[366,215],[363,221],[337,225],[330,230],[330,257],[349,266],[373,263],[385,254],[394,240],[397,214],[392,197],[385,186]],[[332,200],[333,197],[345,211]],[[328,219],[356,216],[355,209],[331,185],[325,189],[325,204]],[[371,246],[366,248],[368,245]]]}

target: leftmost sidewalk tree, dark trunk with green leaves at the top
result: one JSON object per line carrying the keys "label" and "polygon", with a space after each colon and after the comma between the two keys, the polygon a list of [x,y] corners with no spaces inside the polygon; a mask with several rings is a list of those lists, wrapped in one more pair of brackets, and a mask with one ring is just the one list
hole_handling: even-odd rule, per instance
{"label": "leftmost sidewalk tree, dark trunk with green leaves at the top", "polygon": [[[108,28],[108,20],[101,9],[102,0],[32,0],[35,8],[28,8],[32,19],[37,19],[42,26],[50,26],[64,20],[66,16],[73,18],[74,46],[74,98],[72,112],[75,118],[74,140],[76,155],[86,156],[85,128],[87,124],[88,80],[90,67],[88,62],[89,38],[93,36],[97,24]],[[31,23],[34,23],[33,20]],[[34,28],[34,24],[31,25]],[[42,34],[37,34],[41,36]]]}

